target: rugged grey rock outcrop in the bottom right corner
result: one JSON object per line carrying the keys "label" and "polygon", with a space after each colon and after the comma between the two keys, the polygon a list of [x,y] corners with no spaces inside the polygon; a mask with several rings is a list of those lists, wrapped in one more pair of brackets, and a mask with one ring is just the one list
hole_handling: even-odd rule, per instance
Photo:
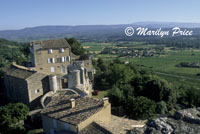
{"label": "rugged grey rock outcrop in the bottom right corner", "polygon": [[177,111],[172,117],[149,120],[145,127],[129,134],[200,134],[200,108]]}

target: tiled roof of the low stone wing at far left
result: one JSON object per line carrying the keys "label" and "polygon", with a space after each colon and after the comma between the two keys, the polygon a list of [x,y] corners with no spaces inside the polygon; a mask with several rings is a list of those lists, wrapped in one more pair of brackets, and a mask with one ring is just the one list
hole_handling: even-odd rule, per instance
{"label": "tiled roof of the low stone wing at far left", "polygon": [[15,65],[10,65],[9,67],[4,69],[4,73],[12,77],[27,79],[28,77],[36,73],[36,71],[31,71],[28,69],[19,68]]}

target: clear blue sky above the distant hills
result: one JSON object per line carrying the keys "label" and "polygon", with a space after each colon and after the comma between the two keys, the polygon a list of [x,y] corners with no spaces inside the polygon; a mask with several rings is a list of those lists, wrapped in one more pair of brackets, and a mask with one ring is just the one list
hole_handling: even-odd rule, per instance
{"label": "clear blue sky above the distant hills", "polygon": [[0,30],[41,25],[200,22],[200,0],[0,0]]}

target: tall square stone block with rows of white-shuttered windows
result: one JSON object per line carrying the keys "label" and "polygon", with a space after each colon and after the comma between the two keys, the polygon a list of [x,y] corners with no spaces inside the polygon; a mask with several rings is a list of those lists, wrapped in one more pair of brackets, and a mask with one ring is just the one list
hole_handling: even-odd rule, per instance
{"label": "tall square stone block with rows of white-shuttered windows", "polygon": [[33,41],[30,52],[34,70],[47,74],[67,74],[72,53],[65,39]]}

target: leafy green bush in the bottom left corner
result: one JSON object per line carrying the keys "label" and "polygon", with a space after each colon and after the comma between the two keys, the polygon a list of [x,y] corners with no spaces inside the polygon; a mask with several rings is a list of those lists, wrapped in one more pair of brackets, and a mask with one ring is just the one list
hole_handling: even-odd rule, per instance
{"label": "leafy green bush in the bottom left corner", "polygon": [[27,118],[29,109],[22,103],[9,103],[0,108],[0,133],[25,134],[23,120]]}

